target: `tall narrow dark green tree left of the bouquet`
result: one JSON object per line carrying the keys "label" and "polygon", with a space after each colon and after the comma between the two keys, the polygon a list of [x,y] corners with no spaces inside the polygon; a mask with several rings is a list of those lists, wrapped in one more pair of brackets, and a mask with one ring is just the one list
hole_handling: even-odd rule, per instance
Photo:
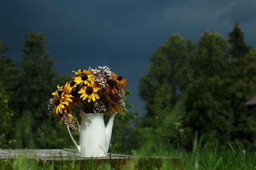
{"label": "tall narrow dark green tree left of the bouquet", "polygon": [[47,104],[54,85],[54,61],[45,51],[41,33],[26,34],[22,52],[23,59],[19,63],[11,95],[11,106],[15,111],[15,139],[17,147],[36,148],[40,147],[36,141],[38,128],[49,121]]}

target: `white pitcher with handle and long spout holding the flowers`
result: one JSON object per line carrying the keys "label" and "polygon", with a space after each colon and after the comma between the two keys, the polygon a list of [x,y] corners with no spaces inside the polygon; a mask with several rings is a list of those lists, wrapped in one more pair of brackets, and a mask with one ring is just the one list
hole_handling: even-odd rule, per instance
{"label": "white pitcher with handle and long spout holding the flowers", "polygon": [[68,134],[77,150],[79,150],[81,157],[107,156],[114,120],[115,113],[111,115],[105,127],[103,113],[86,113],[85,116],[81,118],[81,125],[78,125],[80,145],[76,143],[67,126]]}

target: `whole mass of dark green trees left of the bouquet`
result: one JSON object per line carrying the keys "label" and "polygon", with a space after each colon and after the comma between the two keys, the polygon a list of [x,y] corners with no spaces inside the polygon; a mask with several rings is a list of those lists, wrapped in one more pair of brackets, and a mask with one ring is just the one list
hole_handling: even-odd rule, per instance
{"label": "whole mass of dark green trees left of the bouquet", "polygon": [[3,42],[0,43],[0,50],[0,84],[4,89],[1,105],[4,104],[3,108],[6,108],[1,111],[13,115],[11,120],[3,120],[1,123],[9,125],[9,131],[6,130],[6,141],[9,144],[2,147],[72,146],[72,141],[66,140],[68,133],[65,126],[56,123],[47,111],[49,98],[57,86],[56,82],[65,82],[67,76],[54,71],[54,59],[45,49],[44,35],[36,32],[25,35],[20,63],[13,64],[12,59],[6,57],[8,48]]}

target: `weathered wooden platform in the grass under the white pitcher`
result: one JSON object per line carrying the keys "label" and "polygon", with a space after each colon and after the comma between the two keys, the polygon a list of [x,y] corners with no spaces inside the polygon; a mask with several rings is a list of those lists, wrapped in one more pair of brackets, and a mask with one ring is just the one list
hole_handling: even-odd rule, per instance
{"label": "weathered wooden platform in the grass under the white pitcher", "polygon": [[[97,157],[97,158],[84,158],[80,157],[79,152],[74,149],[61,149],[61,150],[0,150],[0,160],[11,160],[14,161],[17,157],[23,156],[27,159],[36,159],[40,164],[44,164],[47,160],[50,164],[58,164],[61,161],[74,161],[76,164],[81,164],[84,167],[88,163],[95,162],[97,165],[102,165],[108,162],[111,166],[120,169],[125,166],[127,162],[136,165],[135,169],[141,169],[145,166],[154,165],[155,167],[161,167],[163,161],[167,161],[172,165],[184,165],[186,166],[186,161],[182,158],[173,157],[134,157],[132,155],[122,155],[108,153],[107,157]],[[83,167],[82,166],[82,167]],[[140,168],[141,167],[141,168]]]}

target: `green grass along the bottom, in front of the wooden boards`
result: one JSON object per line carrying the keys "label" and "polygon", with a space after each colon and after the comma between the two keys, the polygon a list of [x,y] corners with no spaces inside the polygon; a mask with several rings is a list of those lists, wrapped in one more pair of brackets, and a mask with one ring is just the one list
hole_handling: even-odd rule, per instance
{"label": "green grass along the bottom, in front of the wooden boards", "polygon": [[40,161],[36,158],[18,157],[15,160],[1,160],[0,169],[256,169],[255,152],[234,148],[231,145],[226,151],[196,149],[154,155],[180,159],[132,159],[125,166],[116,167],[111,160]]}

